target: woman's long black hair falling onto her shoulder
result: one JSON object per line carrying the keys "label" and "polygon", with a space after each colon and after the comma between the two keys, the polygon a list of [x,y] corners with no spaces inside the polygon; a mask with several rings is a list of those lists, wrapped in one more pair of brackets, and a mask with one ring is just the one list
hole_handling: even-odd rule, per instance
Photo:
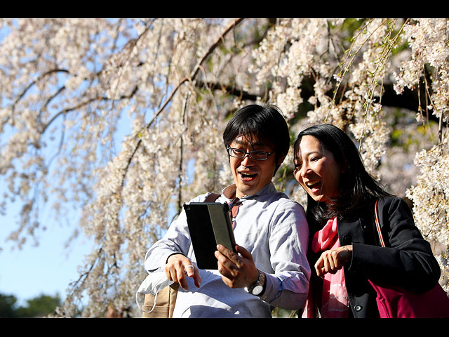
{"label": "woman's long black hair falling onto her shoulder", "polygon": [[338,219],[351,218],[356,216],[356,211],[372,201],[373,197],[390,195],[366,171],[356,145],[340,128],[331,124],[319,124],[306,128],[295,140],[295,153],[299,150],[303,136],[315,137],[324,149],[333,154],[335,161],[346,168],[340,176],[338,196],[329,198],[328,205],[314,201],[307,195],[309,225],[321,227],[333,216],[337,216]]}

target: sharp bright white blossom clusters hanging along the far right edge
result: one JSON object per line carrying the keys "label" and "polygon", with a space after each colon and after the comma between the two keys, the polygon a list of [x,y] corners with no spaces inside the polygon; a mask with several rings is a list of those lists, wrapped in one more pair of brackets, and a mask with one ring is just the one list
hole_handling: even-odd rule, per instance
{"label": "sharp bright white blossom clusters hanging along the far right edge", "polygon": [[[441,127],[449,117],[449,20],[414,19],[414,22],[414,25],[407,25],[404,29],[404,38],[410,45],[410,57],[403,60],[400,71],[395,74],[395,89],[401,93],[406,87],[424,86],[428,93],[426,110],[440,120],[440,126],[437,144],[417,152],[415,164],[420,168],[420,174],[416,185],[412,185],[406,194],[413,201],[415,221],[424,236],[443,246],[436,256],[441,263],[441,283],[449,290],[449,139],[447,128]],[[431,83],[427,80],[427,67],[433,69]],[[423,122],[423,116],[419,112],[417,120]]]}

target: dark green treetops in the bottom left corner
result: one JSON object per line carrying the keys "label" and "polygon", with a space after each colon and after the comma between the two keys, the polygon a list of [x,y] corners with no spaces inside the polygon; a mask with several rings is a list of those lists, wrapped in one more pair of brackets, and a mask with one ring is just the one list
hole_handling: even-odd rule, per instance
{"label": "dark green treetops in the bottom left corner", "polygon": [[36,318],[46,317],[60,305],[60,297],[41,294],[27,300],[27,306],[16,308],[17,298],[0,293],[0,318]]}

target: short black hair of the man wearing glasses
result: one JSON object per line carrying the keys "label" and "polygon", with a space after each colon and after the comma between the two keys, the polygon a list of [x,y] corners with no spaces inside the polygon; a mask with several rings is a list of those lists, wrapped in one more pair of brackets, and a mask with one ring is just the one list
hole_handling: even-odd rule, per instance
{"label": "short black hair of the man wearing glasses", "polygon": [[278,107],[274,105],[247,105],[237,111],[229,120],[223,132],[225,147],[238,136],[245,136],[251,143],[253,139],[268,142],[276,151],[276,173],[279,169],[278,161],[288,154],[290,148],[290,134],[286,120]]}

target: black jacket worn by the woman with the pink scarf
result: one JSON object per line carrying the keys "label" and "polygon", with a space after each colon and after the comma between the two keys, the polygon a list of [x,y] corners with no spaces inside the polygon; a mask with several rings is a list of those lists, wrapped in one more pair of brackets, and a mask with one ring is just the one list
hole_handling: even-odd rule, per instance
{"label": "black jacket worn by the woman with the pink scarf", "polygon": [[[340,246],[352,244],[352,260],[344,266],[350,316],[379,317],[373,282],[402,286],[415,292],[432,289],[440,277],[440,267],[415,226],[408,204],[398,197],[384,197],[378,204],[385,248],[375,230],[375,200],[358,217],[337,221]],[[313,235],[314,233],[311,233]],[[314,265],[319,254],[311,256]],[[312,273],[314,294],[321,293],[322,281]]]}

